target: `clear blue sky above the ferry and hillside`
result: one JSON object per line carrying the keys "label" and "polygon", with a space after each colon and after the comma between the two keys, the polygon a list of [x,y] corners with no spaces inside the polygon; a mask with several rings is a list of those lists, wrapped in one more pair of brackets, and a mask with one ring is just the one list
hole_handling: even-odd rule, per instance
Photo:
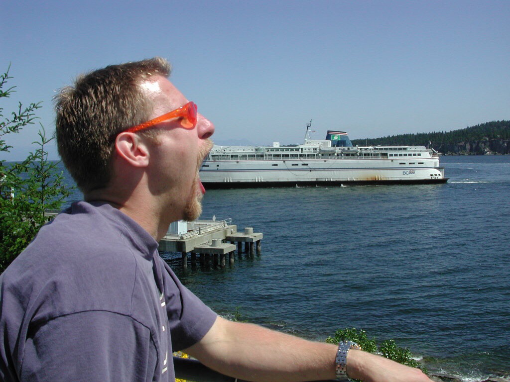
{"label": "clear blue sky above the ferry and hillside", "polygon": [[[77,74],[162,56],[171,80],[216,125],[219,144],[449,131],[510,119],[510,1],[11,1],[0,70],[10,100],[42,101]],[[38,125],[0,159],[33,149]],[[54,146],[50,158],[57,158]]]}

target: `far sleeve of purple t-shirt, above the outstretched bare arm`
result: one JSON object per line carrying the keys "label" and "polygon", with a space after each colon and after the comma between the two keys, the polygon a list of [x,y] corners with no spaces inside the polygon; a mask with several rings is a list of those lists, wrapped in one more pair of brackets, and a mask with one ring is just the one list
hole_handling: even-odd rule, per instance
{"label": "far sleeve of purple t-shirt, above the outstretched bare arm", "polygon": [[163,260],[165,267],[165,298],[172,350],[186,349],[209,332],[217,314],[177,279]]}

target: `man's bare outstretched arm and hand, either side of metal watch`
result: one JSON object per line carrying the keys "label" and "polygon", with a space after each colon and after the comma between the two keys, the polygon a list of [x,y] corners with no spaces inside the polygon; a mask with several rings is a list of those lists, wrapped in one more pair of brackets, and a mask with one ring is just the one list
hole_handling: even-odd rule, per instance
{"label": "man's bare outstretched arm and hand, either side of metal watch", "polygon": [[[335,379],[336,345],[221,317],[185,351],[211,369],[254,382]],[[347,374],[365,382],[430,382],[419,369],[354,349],[347,357]]]}

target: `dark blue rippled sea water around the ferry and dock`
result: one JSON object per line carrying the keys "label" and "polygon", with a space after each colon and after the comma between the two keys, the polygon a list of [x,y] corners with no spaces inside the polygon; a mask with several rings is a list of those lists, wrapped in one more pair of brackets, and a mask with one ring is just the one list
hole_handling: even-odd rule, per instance
{"label": "dark blue rippled sea water around the ferry and dock", "polygon": [[430,371],[509,375],[510,156],[441,164],[446,184],[210,190],[202,216],[262,232],[262,254],[164,257],[222,315],[316,340],[364,329]]}

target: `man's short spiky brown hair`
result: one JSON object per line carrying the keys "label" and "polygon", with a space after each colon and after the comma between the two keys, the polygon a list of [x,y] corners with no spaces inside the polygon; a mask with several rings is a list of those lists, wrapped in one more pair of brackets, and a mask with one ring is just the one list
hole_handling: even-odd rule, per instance
{"label": "man's short spiky brown hair", "polygon": [[109,138],[149,119],[152,106],[139,84],[157,74],[170,75],[170,65],[160,57],[110,65],[80,75],[55,96],[59,154],[82,192],[110,181]]}

